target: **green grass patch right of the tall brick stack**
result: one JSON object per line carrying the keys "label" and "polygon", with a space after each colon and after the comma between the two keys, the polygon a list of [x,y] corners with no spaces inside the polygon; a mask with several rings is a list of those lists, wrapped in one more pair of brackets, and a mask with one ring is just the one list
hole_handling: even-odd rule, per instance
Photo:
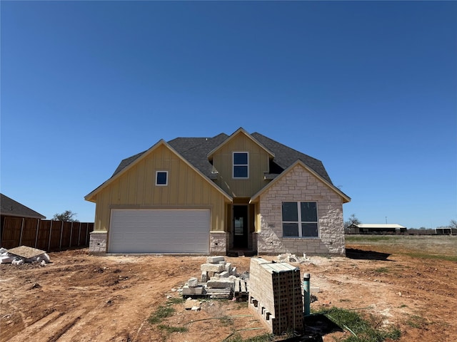
{"label": "green grass patch right of the tall brick stack", "polygon": [[351,336],[340,340],[341,342],[382,342],[386,338],[398,340],[401,331],[397,327],[383,328],[381,321],[375,316],[364,318],[356,311],[333,307],[323,310],[324,314],[334,323],[351,332]]}

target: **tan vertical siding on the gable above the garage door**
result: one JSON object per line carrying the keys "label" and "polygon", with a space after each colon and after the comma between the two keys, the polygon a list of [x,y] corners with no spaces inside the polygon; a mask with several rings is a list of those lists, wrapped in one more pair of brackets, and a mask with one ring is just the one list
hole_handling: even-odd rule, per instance
{"label": "tan vertical siding on the gable above the garage door", "polygon": [[[168,185],[156,185],[168,171]],[[162,145],[96,194],[95,230],[109,231],[111,209],[209,208],[211,230],[224,231],[225,197],[203,176]]]}

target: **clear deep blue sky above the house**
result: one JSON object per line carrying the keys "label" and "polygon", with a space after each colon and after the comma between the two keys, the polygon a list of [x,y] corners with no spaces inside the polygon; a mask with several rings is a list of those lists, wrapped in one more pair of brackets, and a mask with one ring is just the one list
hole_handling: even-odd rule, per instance
{"label": "clear deep blue sky above the house", "polygon": [[1,1],[1,193],[84,196],[158,140],[243,127],[363,223],[457,219],[455,1]]}

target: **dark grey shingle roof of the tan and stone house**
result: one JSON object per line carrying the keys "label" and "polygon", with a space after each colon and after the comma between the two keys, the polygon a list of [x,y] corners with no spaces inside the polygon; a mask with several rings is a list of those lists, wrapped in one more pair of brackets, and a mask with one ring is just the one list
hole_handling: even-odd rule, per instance
{"label": "dark grey shingle roof of the tan and stone house", "polygon": [[[236,133],[240,130],[243,129],[238,129]],[[246,131],[243,130],[243,132]],[[246,134],[248,135],[248,133]],[[209,153],[214,152],[219,146],[224,145],[224,143],[226,143],[233,135],[229,136],[225,133],[221,133],[213,138],[176,138],[170,140],[168,144],[191,165],[194,165],[194,167],[200,170],[201,173],[206,175],[206,177],[211,177],[213,165],[211,165],[211,162],[208,159]],[[267,150],[271,157],[273,157],[270,161],[271,174],[278,175],[293,165],[293,163],[297,160],[301,160],[304,165],[316,172],[319,177],[333,185],[321,160],[317,160],[309,155],[293,150],[293,148],[283,145],[280,142],[266,137],[265,135],[261,135],[260,133],[252,133],[251,138],[256,140],[256,142],[258,142],[259,145]],[[144,152],[132,155],[131,157],[122,160],[111,177],[114,177],[121,172],[121,170],[124,170],[125,167],[129,166],[132,162],[141,157]]]}

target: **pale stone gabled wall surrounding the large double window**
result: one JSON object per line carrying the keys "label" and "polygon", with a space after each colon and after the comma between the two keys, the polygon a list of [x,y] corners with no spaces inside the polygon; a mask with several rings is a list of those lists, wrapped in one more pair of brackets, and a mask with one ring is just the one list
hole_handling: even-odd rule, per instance
{"label": "pale stone gabled wall surrounding the large double window", "polygon": [[[318,238],[282,237],[281,203],[294,201],[317,202]],[[258,254],[346,254],[341,197],[301,165],[263,193],[258,205],[261,231],[253,237]]]}

